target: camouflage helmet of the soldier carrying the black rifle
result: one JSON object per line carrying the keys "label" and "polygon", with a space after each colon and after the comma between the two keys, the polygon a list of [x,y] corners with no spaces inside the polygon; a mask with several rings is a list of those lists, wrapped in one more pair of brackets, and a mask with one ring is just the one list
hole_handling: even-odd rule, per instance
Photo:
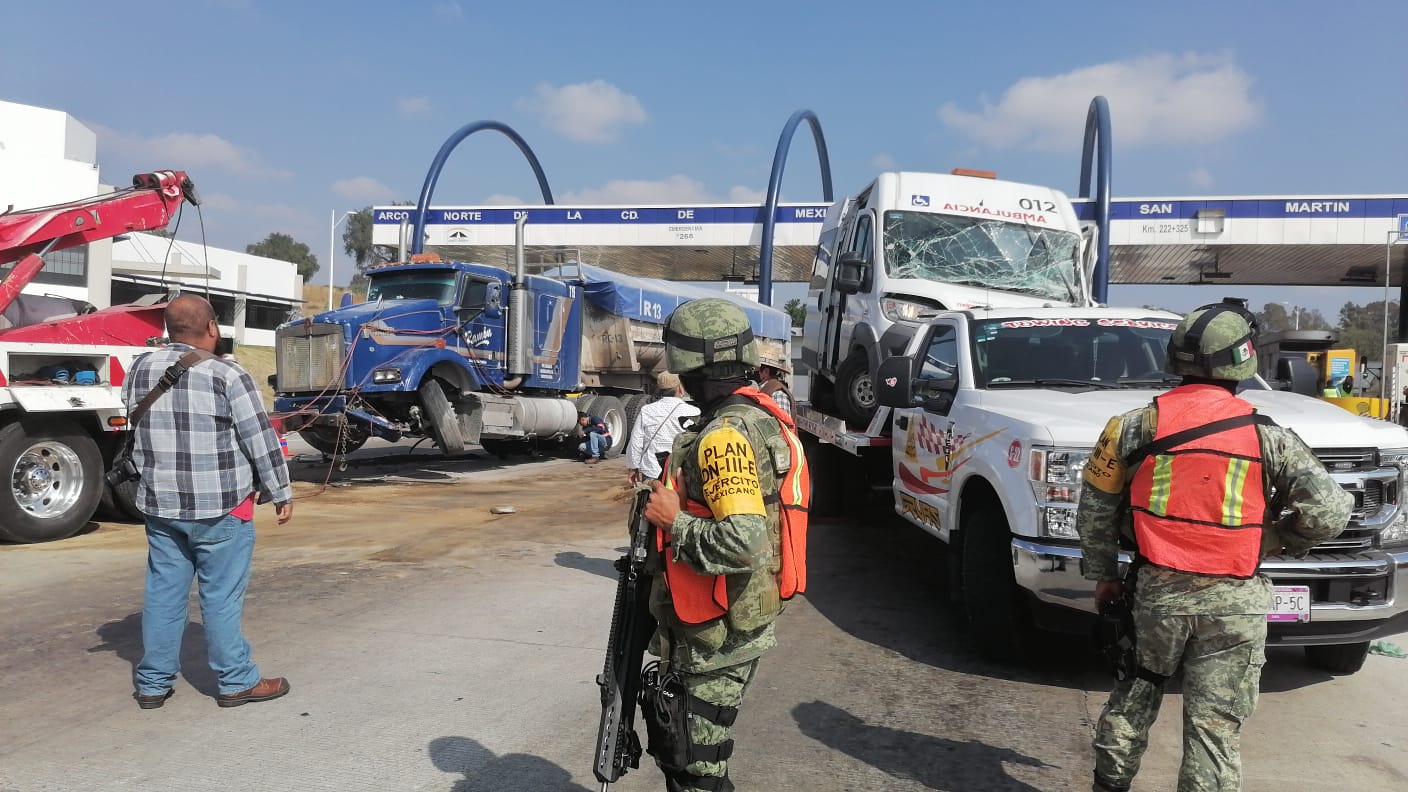
{"label": "camouflage helmet of the soldier carrying the black rifle", "polygon": [[665,365],[674,373],[707,368],[712,375],[734,376],[758,362],[748,314],[729,300],[690,300],[665,320]]}

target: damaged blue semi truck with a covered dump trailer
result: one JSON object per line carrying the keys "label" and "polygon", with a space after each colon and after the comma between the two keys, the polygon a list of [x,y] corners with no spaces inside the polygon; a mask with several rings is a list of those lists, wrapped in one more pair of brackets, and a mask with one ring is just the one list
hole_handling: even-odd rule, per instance
{"label": "damaged blue semi truck with a covered dump trailer", "polygon": [[[665,368],[665,320],[724,292],[584,264],[528,272],[410,256],[367,272],[365,303],[276,330],[275,409],[328,455],[370,437],[429,437],[507,457],[603,417],[620,454]],[[769,357],[790,359],[790,317],[736,299]]]}

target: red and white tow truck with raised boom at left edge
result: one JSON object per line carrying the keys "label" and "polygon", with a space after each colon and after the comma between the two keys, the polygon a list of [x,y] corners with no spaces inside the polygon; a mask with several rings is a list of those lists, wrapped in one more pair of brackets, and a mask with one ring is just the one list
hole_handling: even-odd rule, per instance
{"label": "red and white tow truck with raised boom at left edge", "polygon": [[122,380],[165,334],[163,306],[94,310],[21,290],[44,255],[163,228],[182,202],[200,203],[186,173],[156,171],[124,190],[0,214],[0,540],[73,536],[100,505],[137,516],[134,485],[110,489],[103,474],[125,437]]}

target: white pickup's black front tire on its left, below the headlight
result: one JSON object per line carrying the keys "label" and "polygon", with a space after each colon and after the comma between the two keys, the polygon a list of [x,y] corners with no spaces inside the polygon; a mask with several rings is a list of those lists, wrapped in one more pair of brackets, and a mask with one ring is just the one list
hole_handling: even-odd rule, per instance
{"label": "white pickup's black front tire on its left, below the headlight", "polygon": [[963,607],[979,654],[1022,660],[1032,623],[1012,578],[1012,537],[1001,506],[984,503],[967,516],[960,552]]}

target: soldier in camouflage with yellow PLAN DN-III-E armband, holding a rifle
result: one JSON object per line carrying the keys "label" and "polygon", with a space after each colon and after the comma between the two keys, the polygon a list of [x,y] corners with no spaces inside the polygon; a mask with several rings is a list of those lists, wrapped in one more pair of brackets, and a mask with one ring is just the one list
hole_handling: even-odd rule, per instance
{"label": "soldier in camouflage with yellow PLAN DN-III-E armband, holding a rifle", "polygon": [[666,471],[674,490],[650,482],[645,514],[665,534],[669,552],[660,564],[710,581],[722,576],[728,607],[700,621],[705,616],[674,602],[683,599],[681,582],[658,571],[650,610],[659,629],[650,651],[662,658],[662,672],[679,674],[689,691],[690,761],[670,767],[652,753],[670,792],[731,792],[736,707],[759,658],[777,644],[777,490],[790,458],[777,420],[735,396],[741,389],[756,393],[749,373],[758,366],[758,344],[738,306],[722,299],[684,303],[667,320],[665,341],[669,369],[703,414],[674,440]]}

